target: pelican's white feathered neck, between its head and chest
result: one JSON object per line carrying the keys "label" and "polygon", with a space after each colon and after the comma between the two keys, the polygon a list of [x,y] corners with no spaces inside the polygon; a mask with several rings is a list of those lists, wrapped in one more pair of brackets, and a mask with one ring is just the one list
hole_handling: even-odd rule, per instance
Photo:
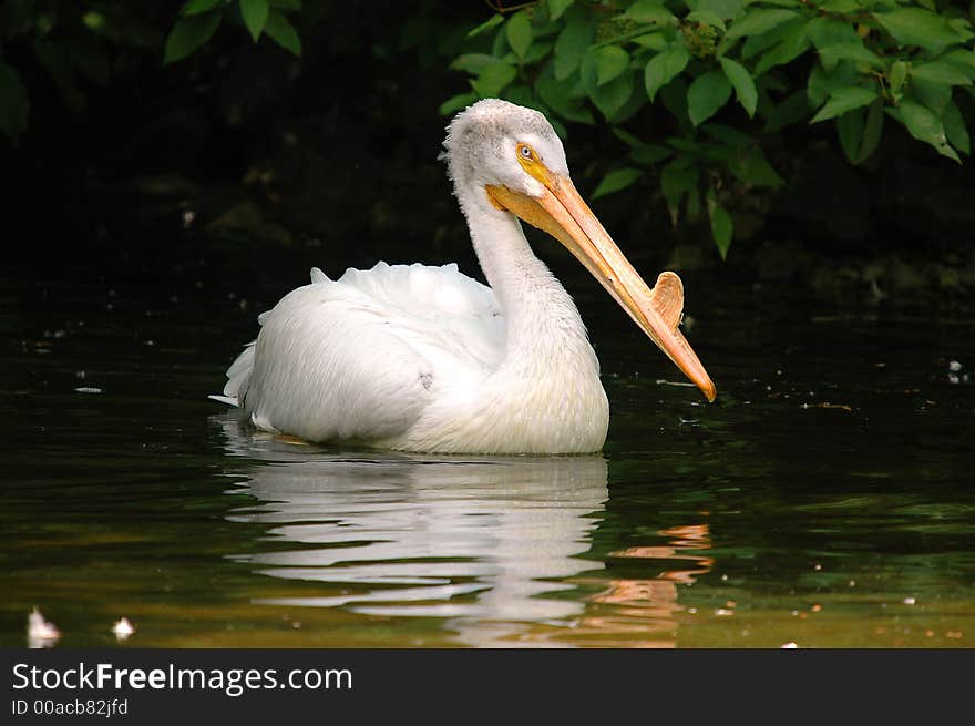
{"label": "pelican's white feathered neck, between its head and chest", "polygon": [[495,208],[483,190],[471,192],[458,196],[481,269],[504,313],[503,365],[544,369],[560,358],[595,361],[572,297],[532,253],[517,218]]}

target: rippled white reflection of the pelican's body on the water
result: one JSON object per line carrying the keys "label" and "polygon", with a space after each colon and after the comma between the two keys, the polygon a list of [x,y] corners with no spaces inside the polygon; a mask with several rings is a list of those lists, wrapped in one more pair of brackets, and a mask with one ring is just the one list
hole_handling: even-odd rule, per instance
{"label": "rippled white reflection of the pelican's body on the water", "polygon": [[234,559],[321,585],[258,602],[447,618],[468,645],[583,616],[557,593],[604,567],[586,559],[608,498],[602,457],[337,454],[217,420],[229,453],[259,460],[242,461],[234,490],[258,503],[229,519],[267,525],[275,544]]}

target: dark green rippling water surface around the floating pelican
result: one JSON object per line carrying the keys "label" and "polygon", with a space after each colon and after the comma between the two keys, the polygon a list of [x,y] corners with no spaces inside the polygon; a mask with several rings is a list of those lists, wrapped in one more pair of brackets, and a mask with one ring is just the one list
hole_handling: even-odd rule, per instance
{"label": "dark green rippling water surface around the floating pelican", "polygon": [[205,398],[306,269],[276,274],[246,305],[192,269],[6,276],[0,645],[33,606],[59,646],[123,615],[123,646],[975,645],[964,305],[686,276],[708,406],[579,276],[604,454],[444,459],[255,436]]}

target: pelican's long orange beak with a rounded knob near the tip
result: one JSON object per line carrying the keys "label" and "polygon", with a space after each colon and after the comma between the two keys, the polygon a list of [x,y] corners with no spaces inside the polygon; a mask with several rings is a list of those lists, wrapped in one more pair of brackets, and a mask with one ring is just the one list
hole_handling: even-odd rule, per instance
{"label": "pelican's long orange beak with a rounded knob near the tip", "polygon": [[553,174],[541,161],[519,159],[544,185],[535,197],[507,186],[488,186],[491,202],[565,245],[619,303],[670,360],[700,388],[708,401],[717,396],[705,367],[678,330],[684,313],[684,285],[674,273],[661,273],[653,289],[633,268],[568,176]]}

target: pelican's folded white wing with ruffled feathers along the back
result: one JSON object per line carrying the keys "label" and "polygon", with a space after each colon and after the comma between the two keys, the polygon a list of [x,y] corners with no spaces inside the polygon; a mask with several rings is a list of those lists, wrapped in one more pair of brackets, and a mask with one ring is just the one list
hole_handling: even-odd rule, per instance
{"label": "pelican's folded white wing with ruffled feathers along the back", "polygon": [[378,264],[286,295],[227,371],[225,399],[263,429],[374,440],[411,426],[447,391],[470,390],[503,352],[490,288],[455,265]]}

